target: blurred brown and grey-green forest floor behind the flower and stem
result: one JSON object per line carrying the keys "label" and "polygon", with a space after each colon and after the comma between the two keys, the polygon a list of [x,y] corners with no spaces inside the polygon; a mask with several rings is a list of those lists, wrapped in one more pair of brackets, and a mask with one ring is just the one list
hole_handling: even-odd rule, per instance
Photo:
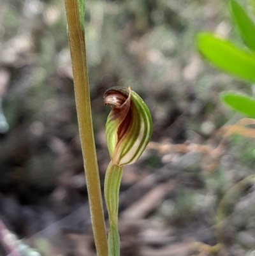
{"label": "blurred brown and grey-green forest floor behind the flower and stem", "polygon": [[[251,96],[254,87],[201,59],[194,44],[201,30],[240,43],[225,1],[87,0],[102,184],[109,162],[106,89],[131,86],[142,96],[158,143],[124,170],[122,256],[255,253],[254,178],[238,183],[254,174],[254,140],[235,135],[217,147],[221,137],[215,137],[242,118],[222,105],[219,93]],[[41,255],[96,255],[64,2],[0,1],[0,52],[0,219]],[[207,153],[196,146],[208,146]],[[3,245],[0,255],[7,255]]]}

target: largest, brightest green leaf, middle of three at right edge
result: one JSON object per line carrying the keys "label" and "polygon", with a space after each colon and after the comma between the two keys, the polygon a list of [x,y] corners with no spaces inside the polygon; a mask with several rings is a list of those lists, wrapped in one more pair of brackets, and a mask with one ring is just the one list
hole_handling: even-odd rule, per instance
{"label": "largest, brightest green leaf, middle of three at right edge", "polygon": [[250,52],[211,33],[199,33],[196,45],[210,63],[240,79],[255,82],[255,56]]}

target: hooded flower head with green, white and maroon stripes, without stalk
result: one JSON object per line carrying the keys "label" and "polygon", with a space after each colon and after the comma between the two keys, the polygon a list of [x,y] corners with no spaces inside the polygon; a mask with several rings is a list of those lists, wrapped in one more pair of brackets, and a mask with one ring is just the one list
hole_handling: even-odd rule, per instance
{"label": "hooded flower head with green, white and maroon stripes, without stalk", "polygon": [[152,118],[147,105],[130,87],[105,92],[105,105],[113,106],[106,121],[106,140],[114,165],[135,163],[149,143]]}

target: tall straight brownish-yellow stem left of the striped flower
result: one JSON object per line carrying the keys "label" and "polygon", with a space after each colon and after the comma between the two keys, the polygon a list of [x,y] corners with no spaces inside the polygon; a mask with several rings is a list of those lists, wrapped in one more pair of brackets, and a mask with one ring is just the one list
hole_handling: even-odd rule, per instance
{"label": "tall straight brownish-yellow stem left of the striped flower", "polygon": [[91,222],[98,256],[108,255],[103,204],[92,128],[91,100],[85,50],[84,26],[79,17],[78,0],[65,0],[68,21],[68,40],[73,66],[75,102],[85,176],[91,209]]}

